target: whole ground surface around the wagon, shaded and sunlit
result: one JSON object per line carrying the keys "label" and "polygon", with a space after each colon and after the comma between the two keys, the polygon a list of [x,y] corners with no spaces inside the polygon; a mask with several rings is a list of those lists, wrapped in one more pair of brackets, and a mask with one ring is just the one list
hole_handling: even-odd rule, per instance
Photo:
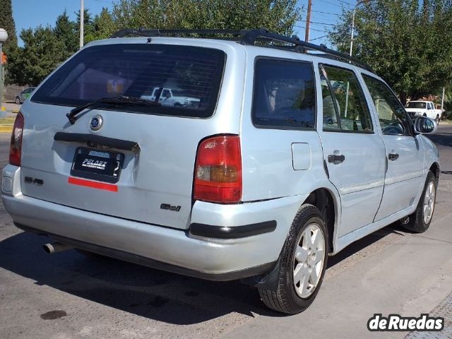
{"label": "whole ground surface around the wagon, shaded and sunlit", "polygon": [[[239,282],[187,278],[114,259],[87,258],[75,250],[49,256],[42,251],[49,239],[16,229],[0,205],[0,338],[291,338],[302,334],[315,338],[316,333],[323,338],[340,338],[338,333],[367,338],[362,319],[369,318],[366,312],[376,311],[372,305],[386,305],[394,313],[400,309],[408,314],[420,309],[428,312],[452,290],[448,227],[452,125],[441,126],[432,140],[438,145],[443,173],[431,230],[418,237],[391,225],[333,256],[319,302],[296,316],[268,311],[256,290]],[[8,136],[0,135],[1,167],[6,164],[8,143]],[[429,256],[434,263],[428,262]],[[409,263],[410,258],[419,265]],[[382,262],[396,268],[388,270]],[[405,273],[410,265],[415,270]],[[432,267],[432,272],[422,273],[425,267]],[[429,292],[410,290],[412,285]],[[359,292],[363,286],[384,292],[369,299]],[[345,296],[353,302],[340,299]],[[377,338],[391,336],[381,334]],[[392,338],[404,334],[396,335]]]}

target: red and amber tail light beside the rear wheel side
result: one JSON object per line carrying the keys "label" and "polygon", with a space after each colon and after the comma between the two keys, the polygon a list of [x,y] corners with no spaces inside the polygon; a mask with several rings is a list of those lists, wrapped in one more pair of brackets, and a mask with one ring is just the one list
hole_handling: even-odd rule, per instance
{"label": "red and amber tail light beside the rear wheel side", "polygon": [[194,198],[237,203],[242,198],[239,136],[214,136],[201,142],[196,155]]}

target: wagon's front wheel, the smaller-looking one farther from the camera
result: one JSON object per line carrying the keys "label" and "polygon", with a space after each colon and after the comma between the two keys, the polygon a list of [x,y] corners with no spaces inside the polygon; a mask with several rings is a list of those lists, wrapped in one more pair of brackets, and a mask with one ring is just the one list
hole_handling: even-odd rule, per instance
{"label": "wagon's front wheel, the smaller-looking one farther from the camera", "polygon": [[415,213],[400,219],[400,224],[405,230],[415,233],[423,233],[428,230],[433,218],[437,186],[433,172],[429,171]]}

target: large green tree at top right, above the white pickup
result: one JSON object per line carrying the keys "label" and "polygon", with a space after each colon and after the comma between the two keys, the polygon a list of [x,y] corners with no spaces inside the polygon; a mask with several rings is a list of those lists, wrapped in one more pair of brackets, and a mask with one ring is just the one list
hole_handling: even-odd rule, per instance
{"label": "large green tree at top right, above the white pickup", "polygon": [[[329,35],[349,52],[352,12],[343,9]],[[417,98],[452,78],[450,0],[369,0],[357,7],[353,54],[371,66],[400,95]]]}

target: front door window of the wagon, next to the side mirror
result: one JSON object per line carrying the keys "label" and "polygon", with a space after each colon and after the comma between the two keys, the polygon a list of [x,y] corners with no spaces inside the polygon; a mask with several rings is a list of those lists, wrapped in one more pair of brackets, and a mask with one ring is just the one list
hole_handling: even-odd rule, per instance
{"label": "front door window of the wagon, next to the side mirror", "polygon": [[376,113],[379,115],[383,134],[400,136],[408,133],[408,121],[400,101],[388,86],[365,74],[362,75],[369,93],[374,100]]}

